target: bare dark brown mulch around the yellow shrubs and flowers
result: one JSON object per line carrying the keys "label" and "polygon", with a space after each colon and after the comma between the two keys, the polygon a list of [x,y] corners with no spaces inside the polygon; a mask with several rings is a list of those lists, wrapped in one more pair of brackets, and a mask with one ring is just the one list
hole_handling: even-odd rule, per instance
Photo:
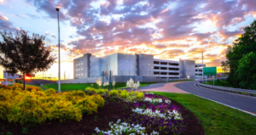
{"label": "bare dark brown mulch around the yellow shrubs and flowers", "polygon": [[[181,110],[184,121],[187,123],[187,127],[184,135],[191,134],[204,134],[204,130],[201,127],[198,119],[189,110],[185,109],[181,104],[172,101],[172,104],[177,105]],[[84,115],[81,121],[49,121],[42,125],[34,126],[20,126],[20,124],[8,123],[0,121],[0,135],[11,132],[12,134],[22,134],[23,127],[28,129],[27,134],[79,134],[79,135],[91,135],[94,133],[94,129],[99,127],[100,130],[106,131],[109,128],[108,123],[113,121],[114,123],[125,115],[130,115],[132,104],[122,102],[119,99],[110,99],[105,102],[105,105],[98,110],[98,113],[94,115]]]}

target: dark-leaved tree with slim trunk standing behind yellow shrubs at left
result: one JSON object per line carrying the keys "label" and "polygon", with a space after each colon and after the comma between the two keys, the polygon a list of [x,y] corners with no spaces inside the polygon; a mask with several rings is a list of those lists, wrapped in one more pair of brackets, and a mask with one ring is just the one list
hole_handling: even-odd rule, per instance
{"label": "dark-leaved tree with slim trunk standing behind yellow shrubs at left", "polygon": [[44,46],[44,36],[27,35],[24,30],[12,32],[0,31],[3,42],[0,41],[0,65],[8,73],[23,75],[23,88],[25,89],[25,76],[48,70],[53,65],[55,56],[49,47]]}

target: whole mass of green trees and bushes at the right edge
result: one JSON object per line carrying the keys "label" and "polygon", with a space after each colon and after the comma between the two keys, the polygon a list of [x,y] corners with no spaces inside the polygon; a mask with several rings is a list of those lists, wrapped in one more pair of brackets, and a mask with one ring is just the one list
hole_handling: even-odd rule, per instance
{"label": "whole mass of green trees and bushes at the right edge", "polygon": [[[244,31],[245,32],[241,35],[241,37],[236,39],[236,41],[233,43],[234,45],[227,49],[227,60],[222,64],[225,69],[230,70],[230,75],[228,76],[227,82],[229,82],[232,87],[256,89],[256,86],[253,85],[255,84],[253,82],[256,82],[256,77],[247,77],[247,75],[255,74],[255,71],[247,70],[247,74],[241,71],[241,66],[244,66],[242,65],[242,62],[244,62],[245,59],[247,59],[248,62],[247,65],[245,65],[247,68],[252,68],[253,65],[253,59],[248,60],[247,57],[251,56],[247,56],[247,53],[256,53],[256,20],[254,20],[251,25],[245,27]],[[243,57],[244,59],[241,60]],[[245,67],[243,67],[243,69],[245,69]]]}

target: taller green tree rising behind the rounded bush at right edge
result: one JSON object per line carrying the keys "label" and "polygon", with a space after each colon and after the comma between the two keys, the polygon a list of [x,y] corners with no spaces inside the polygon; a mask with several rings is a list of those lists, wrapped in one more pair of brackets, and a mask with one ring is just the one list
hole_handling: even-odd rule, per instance
{"label": "taller green tree rising behind the rounded bush at right edge", "polygon": [[[226,52],[226,61],[224,66],[230,67],[230,75],[227,81],[233,87],[240,87],[240,78],[238,77],[238,63],[243,55],[247,53],[256,53],[256,20],[244,28],[244,33],[233,42],[233,46],[229,47]],[[255,73],[251,73],[255,74]]]}

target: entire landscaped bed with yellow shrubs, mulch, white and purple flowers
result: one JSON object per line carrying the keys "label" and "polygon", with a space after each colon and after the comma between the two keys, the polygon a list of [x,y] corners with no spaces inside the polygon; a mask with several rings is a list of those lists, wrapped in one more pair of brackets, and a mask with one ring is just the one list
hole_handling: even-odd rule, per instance
{"label": "entire landscaped bed with yellow shrubs, mulch, white and purple flowers", "polygon": [[182,105],[154,93],[0,89],[1,134],[203,134]]}

